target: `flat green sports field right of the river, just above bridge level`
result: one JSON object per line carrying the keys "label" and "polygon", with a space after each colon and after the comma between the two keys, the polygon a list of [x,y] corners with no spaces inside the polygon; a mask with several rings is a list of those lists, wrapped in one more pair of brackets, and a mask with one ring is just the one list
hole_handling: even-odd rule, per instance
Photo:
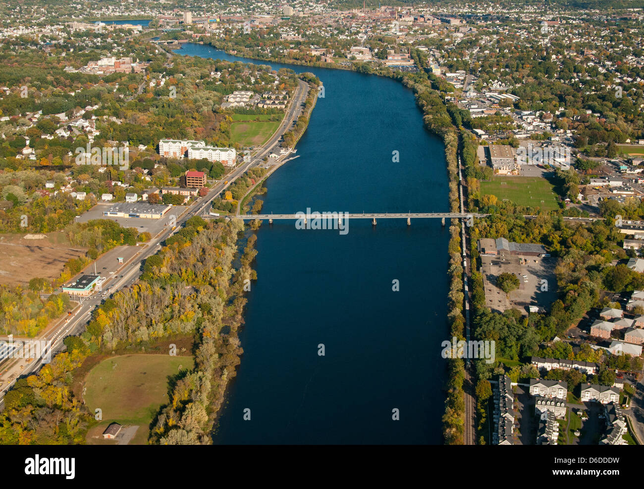
{"label": "flat green sports field right of the river, just above bridge level", "polygon": [[559,208],[553,185],[542,177],[495,176],[481,182],[481,195],[496,195],[516,205],[554,210]]}

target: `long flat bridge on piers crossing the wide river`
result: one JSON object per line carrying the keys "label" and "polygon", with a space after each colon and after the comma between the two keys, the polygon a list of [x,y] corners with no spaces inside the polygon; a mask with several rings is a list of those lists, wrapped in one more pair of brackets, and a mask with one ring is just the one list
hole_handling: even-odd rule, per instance
{"label": "long flat bridge on piers crossing the wide river", "polygon": [[298,214],[240,214],[231,216],[215,216],[205,215],[204,217],[236,217],[243,221],[265,221],[269,220],[272,223],[274,219],[324,219],[343,221],[344,219],[371,219],[372,224],[377,223],[377,219],[407,219],[407,224],[410,225],[413,219],[442,219],[444,223],[445,218],[448,219],[470,219],[471,217],[486,217],[489,214],[476,214],[465,212],[384,212],[373,213],[363,212],[362,214],[355,214],[350,212],[299,212]]}

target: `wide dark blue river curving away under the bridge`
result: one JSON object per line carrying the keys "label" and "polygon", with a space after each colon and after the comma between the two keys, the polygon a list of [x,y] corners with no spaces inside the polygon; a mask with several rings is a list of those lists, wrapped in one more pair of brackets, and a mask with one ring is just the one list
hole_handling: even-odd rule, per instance
{"label": "wide dark blue river curving away under the bridge", "polygon": [[[444,146],[401,83],[205,45],[176,52],[314,72],[323,81],[299,157],[269,177],[263,212],[448,210]],[[242,363],[214,443],[442,443],[448,228],[439,219],[412,219],[410,227],[355,219],[341,235],[274,221],[257,234]]]}

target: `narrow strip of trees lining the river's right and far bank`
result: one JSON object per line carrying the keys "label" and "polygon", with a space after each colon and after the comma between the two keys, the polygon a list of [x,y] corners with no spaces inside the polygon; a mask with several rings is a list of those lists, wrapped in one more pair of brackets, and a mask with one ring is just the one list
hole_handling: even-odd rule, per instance
{"label": "narrow strip of trees lining the river's right and far bank", "polygon": [[[213,48],[229,52],[229,46],[216,45],[214,41],[207,43]],[[459,212],[459,169],[458,159],[459,148],[462,151],[464,165],[474,163],[476,157],[476,146],[473,146],[473,139],[466,134],[459,124],[460,114],[456,105],[446,102],[446,95],[453,92],[448,83],[442,81],[433,74],[429,74],[422,68],[427,66],[426,55],[421,51],[412,48],[410,54],[420,69],[418,72],[401,72],[392,70],[386,66],[374,66],[369,63],[354,63],[353,66],[338,66],[334,63],[303,63],[294,59],[258,59],[258,57],[245,50],[236,49],[237,56],[267,61],[284,63],[299,66],[316,66],[318,68],[346,69],[364,74],[384,76],[400,81],[404,86],[412,90],[416,103],[422,111],[425,127],[440,137],[445,145],[446,168],[449,179],[449,203],[451,212]],[[472,150],[472,148],[474,148]],[[464,203],[466,205],[466,203]],[[462,274],[463,268],[460,259],[460,226],[452,223],[450,225],[450,242],[448,254],[450,255],[449,275],[450,288],[448,292],[448,328],[450,337],[457,337],[457,340],[464,340],[465,318],[463,315],[464,294]],[[446,379],[446,400],[445,412],[442,417],[443,437],[445,444],[464,444],[464,423],[465,423],[465,392],[463,389],[465,379],[465,364],[462,359],[447,359],[448,375]]]}

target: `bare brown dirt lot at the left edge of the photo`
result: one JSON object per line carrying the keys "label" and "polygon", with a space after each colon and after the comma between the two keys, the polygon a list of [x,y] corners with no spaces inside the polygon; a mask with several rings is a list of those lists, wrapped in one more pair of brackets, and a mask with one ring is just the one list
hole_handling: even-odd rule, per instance
{"label": "bare brown dirt lot at the left edge of the photo", "polygon": [[0,284],[27,284],[33,277],[55,279],[70,259],[86,253],[71,246],[62,232],[48,233],[44,239],[24,239],[24,235],[0,235]]}

